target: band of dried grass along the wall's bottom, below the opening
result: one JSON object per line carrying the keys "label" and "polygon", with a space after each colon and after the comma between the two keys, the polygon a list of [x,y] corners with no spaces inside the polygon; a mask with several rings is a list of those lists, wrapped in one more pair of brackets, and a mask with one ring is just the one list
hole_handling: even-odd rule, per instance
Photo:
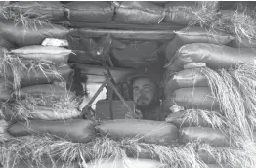
{"label": "band of dried grass along the wall's bottom, below the opening", "polygon": [[196,151],[206,151],[217,162],[225,163],[234,168],[252,168],[256,165],[255,155],[249,151],[233,147],[210,147],[208,145],[187,144],[185,146],[159,146],[139,143],[136,139],[123,139],[114,141],[104,138],[96,138],[90,143],[80,144],[67,142],[64,139],[44,135],[43,137],[26,136],[12,139],[1,147],[0,157],[5,168],[12,167],[24,160],[34,161],[38,165],[43,164],[45,158],[53,162],[57,160],[65,163],[65,166],[76,162],[86,167],[86,162],[91,160],[113,160],[116,163],[131,157],[128,151],[135,151],[132,157],[140,158],[141,153],[147,152],[149,157],[160,161],[163,167],[190,167],[207,168],[207,165],[198,157]]}

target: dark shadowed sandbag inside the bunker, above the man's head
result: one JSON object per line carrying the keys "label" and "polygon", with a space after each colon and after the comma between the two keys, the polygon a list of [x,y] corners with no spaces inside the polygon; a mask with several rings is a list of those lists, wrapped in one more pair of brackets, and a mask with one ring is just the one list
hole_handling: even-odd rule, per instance
{"label": "dark shadowed sandbag inside the bunker, above the man's head", "polygon": [[112,49],[111,58],[117,66],[145,67],[157,62],[157,49],[155,42],[133,42],[123,49]]}

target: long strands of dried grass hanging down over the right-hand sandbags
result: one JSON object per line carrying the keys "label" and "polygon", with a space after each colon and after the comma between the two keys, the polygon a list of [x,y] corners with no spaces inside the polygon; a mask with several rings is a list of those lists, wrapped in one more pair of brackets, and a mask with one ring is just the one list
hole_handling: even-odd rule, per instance
{"label": "long strands of dried grass hanging down over the right-hand sandbags", "polygon": [[[243,67],[243,68],[242,68]],[[247,68],[250,67],[250,68]],[[216,100],[220,104],[221,111],[229,121],[226,134],[231,137],[235,147],[241,147],[245,151],[256,153],[253,143],[253,126],[255,116],[254,97],[255,87],[254,71],[252,66],[243,64],[235,69],[216,71],[205,68],[203,71],[209,81],[209,87]],[[246,79],[246,80],[245,80]],[[247,93],[247,92],[252,93]],[[249,118],[249,119],[248,119]]]}

